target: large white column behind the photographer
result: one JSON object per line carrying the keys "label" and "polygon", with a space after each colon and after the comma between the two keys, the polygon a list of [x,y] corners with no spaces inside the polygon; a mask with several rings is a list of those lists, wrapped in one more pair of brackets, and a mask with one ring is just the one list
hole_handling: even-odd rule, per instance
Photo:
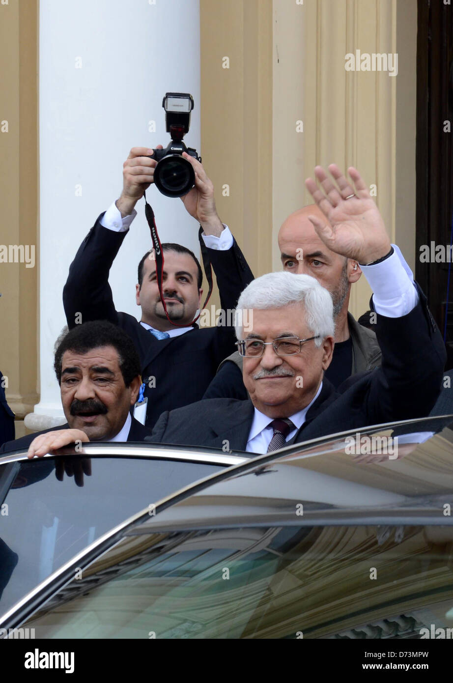
{"label": "large white column behind the photographer", "polygon": [[[40,403],[33,430],[64,422],[53,346],[66,324],[62,290],[98,215],[120,196],[131,147],[164,147],[165,92],[195,99],[185,141],[200,150],[199,0],[40,2]],[[155,132],[152,124],[155,122]],[[148,201],[162,241],[198,252],[198,225],[180,199],[154,187]],[[138,316],[137,264],[150,248],[144,203],[111,270],[120,311]]]}

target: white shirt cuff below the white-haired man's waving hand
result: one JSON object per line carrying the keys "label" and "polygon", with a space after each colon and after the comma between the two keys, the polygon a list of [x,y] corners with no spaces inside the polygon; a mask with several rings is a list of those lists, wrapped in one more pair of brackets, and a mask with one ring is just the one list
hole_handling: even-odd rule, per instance
{"label": "white shirt cuff below the white-haired man's waving hand", "polygon": [[410,313],[418,303],[418,292],[411,268],[396,245],[394,253],[374,266],[360,266],[373,290],[376,313],[387,318],[400,318]]}

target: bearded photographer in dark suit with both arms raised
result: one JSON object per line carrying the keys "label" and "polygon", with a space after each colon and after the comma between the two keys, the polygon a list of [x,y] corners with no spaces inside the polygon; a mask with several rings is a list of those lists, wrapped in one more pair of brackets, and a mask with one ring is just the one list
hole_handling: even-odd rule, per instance
{"label": "bearded photographer in dark suit with both arms raised", "polygon": [[[162,149],[159,145],[158,149]],[[234,329],[217,326],[199,329],[192,324],[201,307],[202,270],[195,255],[181,245],[163,244],[165,256],[163,298],[167,320],[156,281],[152,252],[139,264],[136,301],[141,320],[115,310],[109,270],[128,229],[137,215],[135,204],[152,184],[156,161],[153,150],[135,147],[123,165],[120,198],[83,240],[69,270],[63,303],[70,329],[77,313],[83,322],[106,319],[118,324],[133,339],[139,352],[144,383],[146,426],[152,427],[163,410],[173,410],[202,398],[219,363],[234,349]],[[182,157],[193,167],[195,186],[181,197],[185,208],[200,223],[203,240],[217,277],[223,310],[234,309],[239,295],[253,275],[228,227],[215,208],[214,187],[202,164],[187,153]],[[151,257],[149,257],[151,256]]]}

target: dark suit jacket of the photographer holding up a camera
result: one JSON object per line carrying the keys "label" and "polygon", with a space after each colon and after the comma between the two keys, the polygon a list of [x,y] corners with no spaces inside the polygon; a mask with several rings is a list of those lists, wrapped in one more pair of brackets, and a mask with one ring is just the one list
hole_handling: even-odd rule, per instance
{"label": "dark suit jacket of the photographer holding up a camera", "polygon": [[[200,400],[215,376],[219,363],[234,351],[234,328],[198,329],[159,341],[133,316],[115,310],[109,270],[126,232],[113,232],[96,224],[83,240],[72,262],[63,290],[63,303],[70,329],[77,311],[87,320],[110,320],[133,339],[139,352],[141,374],[148,397],[146,426],[152,427],[163,412]],[[209,249],[219,286],[221,307],[234,309],[239,295],[253,275],[236,241],[228,251]],[[137,259],[138,261],[138,259]],[[131,296],[133,292],[131,291]],[[155,378],[149,386],[148,378]],[[154,388],[152,385],[155,385]]]}

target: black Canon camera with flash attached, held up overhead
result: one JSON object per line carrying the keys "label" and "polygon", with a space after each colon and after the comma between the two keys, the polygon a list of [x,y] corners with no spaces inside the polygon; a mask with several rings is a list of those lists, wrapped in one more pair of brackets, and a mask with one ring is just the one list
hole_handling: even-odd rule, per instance
{"label": "black Canon camera with flash attached, held up overhead", "polygon": [[162,106],[165,109],[165,124],[171,142],[165,150],[153,150],[158,163],[154,169],[154,184],[166,197],[182,197],[187,195],[195,184],[195,173],[182,152],[202,161],[196,150],[186,147],[182,142],[185,133],[189,132],[193,97],[184,92],[167,92]]}

